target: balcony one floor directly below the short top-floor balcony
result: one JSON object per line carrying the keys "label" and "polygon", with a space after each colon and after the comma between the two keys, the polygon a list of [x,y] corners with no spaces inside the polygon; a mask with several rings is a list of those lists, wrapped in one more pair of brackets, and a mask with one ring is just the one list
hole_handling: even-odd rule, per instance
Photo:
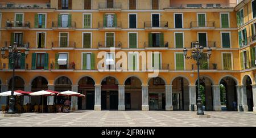
{"label": "balcony one floor directly below the short top-floor balcony", "polygon": [[98,22],[98,29],[100,29],[100,31],[121,31],[122,22],[121,21],[117,21],[117,23]]}

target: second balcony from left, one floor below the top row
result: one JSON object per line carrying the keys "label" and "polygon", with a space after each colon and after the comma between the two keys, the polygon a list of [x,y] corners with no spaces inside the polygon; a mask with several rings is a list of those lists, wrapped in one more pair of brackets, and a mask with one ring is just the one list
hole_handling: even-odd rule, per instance
{"label": "second balcony from left, one floor below the top row", "polygon": [[75,21],[52,21],[52,29],[59,31],[74,31],[76,29]]}

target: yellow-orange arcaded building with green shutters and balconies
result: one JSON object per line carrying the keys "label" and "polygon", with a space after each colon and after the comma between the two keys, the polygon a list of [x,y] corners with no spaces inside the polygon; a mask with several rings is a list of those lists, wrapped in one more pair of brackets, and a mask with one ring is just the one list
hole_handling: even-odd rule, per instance
{"label": "yellow-orange arcaded building with green shutters and balconies", "polygon": [[[197,66],[185,59],[183,49],[191,55],[199,41],[206,54],[212,49],[200,66],[205,110],[242,105],[256,111],[254,1],[11,0],[0,5],[1,47],[16,42],[20,51],[30,49],[15,63],[15,89],[80,92],[86,97],[72,97],[72,107],[80,110],[191,110]],[[5,92],[13,61],[2,57],[0,62]],[[151,77],[154,72],[158,75]]]}

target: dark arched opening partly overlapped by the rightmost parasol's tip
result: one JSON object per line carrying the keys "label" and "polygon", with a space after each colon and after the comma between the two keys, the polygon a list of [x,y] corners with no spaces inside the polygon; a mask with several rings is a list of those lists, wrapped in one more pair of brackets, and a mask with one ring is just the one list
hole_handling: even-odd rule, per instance
{"label": "dark arched opening partly overlapped by the rightmost parasol's tip", "polygon": [[94,109],[94,97],[95,97],[95,82],[91,77],[82,77],[79,80],[78,92],[85,95],[85,97],[78,98],[79,110],[93,110]]}

